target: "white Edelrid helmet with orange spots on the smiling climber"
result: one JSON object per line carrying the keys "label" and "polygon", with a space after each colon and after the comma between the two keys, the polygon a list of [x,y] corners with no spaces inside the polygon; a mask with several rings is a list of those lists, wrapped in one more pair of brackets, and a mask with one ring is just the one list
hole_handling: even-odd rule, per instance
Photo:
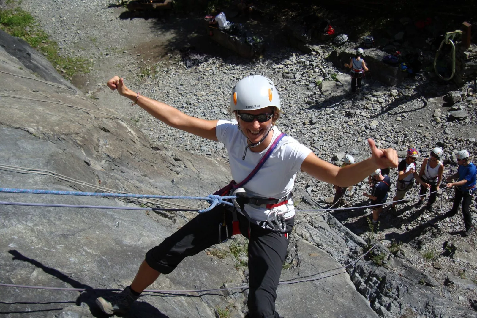
{"label": "white Edelrid helmet with orange spots on the smiling climber", "polygon": [[239,81],[232,89],[230,109],[255,110],[268,106],[280,109],[280,96],[270,78],[262,75],[249,75]]}

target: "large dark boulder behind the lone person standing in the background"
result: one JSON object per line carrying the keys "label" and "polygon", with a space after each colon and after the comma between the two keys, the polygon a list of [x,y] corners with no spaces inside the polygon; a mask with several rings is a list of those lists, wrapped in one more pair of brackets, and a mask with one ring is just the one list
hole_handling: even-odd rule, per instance
{"label": "large dark boulder behind the lone person standing in the background", "polygon": [[[356,51],[348,48],[343,51],[335,50],[330,55],[330,61],[337,68],[343,68],[345,63],[350,63],[350,59],[355,56]],[[406,73],[401,72],[399,67],[390,66],[383,62],[383,57],[388,55],[379,49],[364,49],[363,59],[369,68],[366,76],[383,82],[386,85],[397,85],[403,79]]]}

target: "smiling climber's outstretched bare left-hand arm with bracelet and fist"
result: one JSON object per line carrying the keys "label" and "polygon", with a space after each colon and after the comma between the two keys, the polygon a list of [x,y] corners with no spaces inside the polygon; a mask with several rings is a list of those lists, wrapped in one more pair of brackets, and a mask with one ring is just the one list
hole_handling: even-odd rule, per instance
{"label": "smiling climber's outstretched bare left-hand arm with bracelet and fist", "polygon": [[[127,97],[132,101],[136,101],[137,93],[124,85],[123,78],[114,76],[108,81],[107,85],[112,90],[117,89],[120,95]],[[172,106],[147,98],[143,95],[139,95],[137,105],[141,106],[145,111],[166,125],[187,131],[203,138],[217,141],[217,136],[215,134],[217,120],[205,120],[186,115]]]}

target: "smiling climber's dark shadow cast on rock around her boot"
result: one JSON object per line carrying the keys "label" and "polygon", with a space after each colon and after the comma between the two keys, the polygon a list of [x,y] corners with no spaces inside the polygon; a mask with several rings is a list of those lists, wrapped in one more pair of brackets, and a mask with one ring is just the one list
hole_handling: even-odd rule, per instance
{"label": "smiling climber's dark shadow cast on rock around her boot", "polygon": [[[108,315],[104,314],[97,306],[95,303],[95,300],[97,297],[108,297],[112,295],[114,292],[113,291],[108,291],[108,290],[102,290],[102,289],[94,289],[92,286],[88,286],[86,284],[83,284],[77,280],[74,280],[70,276],[67,276],[60,272],[57,269],[54,269],[52,267],[45,266],[38,262],[37,260],[28,258],[18,252],[17,250],[9,250],[8,253],[13,255],[12,260],[14,261],[23,261],[30,263],[31,265],[34,265],[38,268],[40,268],[43,272],[46,274],[49,274],[51,276],[54,276],[63,282],[71,285],[73,288],[85,288],[87,290],[83,291],[80,296],[76,298],[76,301],[74,302],[76,306],[81,306],[82,303],[86,303],[88,307],[90,308],[91,314],[94,317],[98,318],[103,318],[103,317],[109,317]],[[47,302],[47,303],[40,303],[40,302],[14,302],[14,303],[5,303],[2,302],[2,304],[10,305],[10,304],[57,304],[57,303],[73,303],[71,302]],[[52,309],[42,309],[39,311],[52,311],[52,310],[61,310],[62,308],[52,308]],[[35,310],[33,309],[32,311],[28,312],[34,312]],[[8,313],[17,313],[18,311],[12,311]],[[26,311],[25,311],[26,312]],[[5,313],[5,312],[4,312]],[[128,314],[124,314],[122,316],[118,317],[155,317],[155,318],[169,318],[165,314],[161,313],[156,307],[146,303],[145,301],[137,301],[133,304],[131,307],[131,311]]]}

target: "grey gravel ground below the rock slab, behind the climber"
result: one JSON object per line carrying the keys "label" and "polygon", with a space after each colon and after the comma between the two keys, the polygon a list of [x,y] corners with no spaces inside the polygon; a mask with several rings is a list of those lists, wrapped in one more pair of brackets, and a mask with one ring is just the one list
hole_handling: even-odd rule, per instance
{"label": "grey gravel ground below the rock slab, behind the climber", "polygon": [[[131,119],[157,142],[227,160],[223,144],[158,122],[110,92],[105,86],[107,79],[118,74],[133,90],[176,106],[189,115],[224,119],[228,118],[228,93],[233,85],[246,75],[263,74],[274,81],[280,92],[284,113],[278,127],[308,145],[321,159],[336,164],[341,164],[345,153],[351,153],[357,160],[368,157],[368,137],[374,138],[379,147],[395,148],[401,157],[411,144],[425,156],[439,145],[444,148],[446,171],[456,162],[456,150],[465,148],[472,155],[477,154],[475,83],[453,87],[437,83],[432,74],[424,72],[397,87],[386,87],[366,78],[361,91],[351,95],[346,81],[340,79],[348,75],[326,60],[332,52],[327,45],[321,45],[312,54],[276,45],[263,57],[246,61],[224,53],[202,30],[194,31],[200,17],[124,19],[124,8],[109,8],[108,4],[104,0],[23,0],[21,5],[39,19],[44,30],[59,43],[62,54],[86,57],[93,63],[91,73],[72,79],[73,84],[99,105],[114,108]],[[180,37],[183,41],[178,40]],[[189,40],[201,42],[209,56],[207,62],[187,69],[177,48]],[[334,94],[323,95],[324,84]],[[394,182],[397,172],[392,171],[390,177]],[[296,183],[323,204],[333,194],[331,185],[305,174],[299,173]],[[348,200],[360,197],[363,191],[369,191],[364,182],[353,188]],[[415,196],[417,192],[414,188],[410,194]],[[472,249],[477,244],[475,233],[468,238],[458,235],[464,229],[460,214],[451,219],[435,219],[437,214],[450,209],[452,196],[451,191],[444,191],[435,204],[435,213],[416,209],[415,198],[401,205],[402,214],[398,216],[384,209],[376,236],[388,246],[392,238],[404,242],[399,253],[443,285],[449,273],[477,279],[475,259],[465,262],[445,254],[445,242],[463,242]],[[372,235],[367,223],[369,212],[334,212],[334,215],[366,238]],[[425,251],[435,251],[436,256],[425,259],[422,257]],[[439,269],[435,262],[440,263]],[[470,307],[469,299],[477,299],[476,289],[446,285],[451,290],[449,297],[462,305]]]}

